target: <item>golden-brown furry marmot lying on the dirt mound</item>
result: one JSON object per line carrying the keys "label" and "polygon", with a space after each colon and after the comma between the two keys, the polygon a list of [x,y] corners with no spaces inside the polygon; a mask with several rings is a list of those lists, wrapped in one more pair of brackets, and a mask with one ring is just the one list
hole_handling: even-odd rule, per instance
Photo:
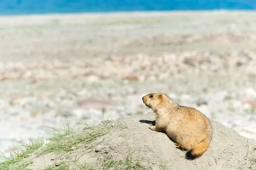
{"label": "golden-brown furry marmot lying on the dirt mound", "polygon": [[202,156],[212,140],[212,124],[195,108],[178,105],[166,94],[148,94],[143,103],[156,114],[156,120],[148,127],[166,133],[176,148],[188,150],[187,159]]}

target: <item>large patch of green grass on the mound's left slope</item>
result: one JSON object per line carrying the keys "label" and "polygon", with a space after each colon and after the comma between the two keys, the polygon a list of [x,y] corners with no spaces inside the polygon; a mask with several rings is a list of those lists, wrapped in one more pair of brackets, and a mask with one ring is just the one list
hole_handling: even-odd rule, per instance
{"label": "large patch of green grass on the mound's left slope", "polygon": [[[75,129],[70,127],[70,125],[62,124],[63,127],[53,128],[49,127],[52,131],[52,135],[47,138],[48,144],[43,146],[45,138],[38,138],[35,141],[29,141],[29,143],[22,143],[21,147],[23,150],[17,152],[10,152],[10,156],[0,157],[0,170],[28,170],[26,167],[33,163],[33,161],[24,161],[24,158],[29,157],[30,153],[35,150],[39,150],[39,155],[45,155],[47,153],[60,153],[68,152],[72,150],[72,147],[78,147],[79,144],[88,144],[92,142],[95,138],[102,136],[109,132],[110,127],[105,125],[104,127],[93,127],[86,123],[83,124],[83,129]],[[57,169],[56,169],[57,168]],[[67,170],[68,167],[61,164],[60,167],[49,167],[46,170]]]}

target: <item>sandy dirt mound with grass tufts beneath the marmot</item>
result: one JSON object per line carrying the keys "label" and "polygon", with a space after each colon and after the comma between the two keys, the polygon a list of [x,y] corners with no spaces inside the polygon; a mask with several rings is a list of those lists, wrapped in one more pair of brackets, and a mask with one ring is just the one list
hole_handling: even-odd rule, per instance
{"label": "sandy dirt mound with grass tufts beneath the marmot", "polygon": [[[26,168],[31,170],[60,170],[64,168],[63,166],[70,170],[246,170],[256,168],[254,164],[256,142],[240,136],[236,131],[218,122],[211,120],[214,131],[209,150],[202,157],[191,161],[185,159],[185,152],[175,148],[166,134],[148,129],[148,123],[154,119],[154,114],[148,113],[142,116],[106,120],[96,127],[85,128],[77,136],[72,134],[63,136],[51,152],[44,154],[45,148],[49,149],[51,146],[50,142],[23,161],[30,161]],[[105,133],[92,133],[95,128]],[[83,138],[85,134],[87,137]],[[77,145],[74,140],[76,138],[81,138]],[[73,141],[74,147],[71,148],[71,142],[70,151],[61,151],[62,142],[67,144],[70,141]]]}

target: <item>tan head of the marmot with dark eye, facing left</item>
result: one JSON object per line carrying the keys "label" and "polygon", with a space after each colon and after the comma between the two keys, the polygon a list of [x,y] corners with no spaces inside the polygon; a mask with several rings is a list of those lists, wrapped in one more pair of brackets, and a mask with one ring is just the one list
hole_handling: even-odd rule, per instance
{"label": "tan head of the marmot with dark eye, facing left", "polygon": [[142,100],[143,100],[143,103],[146,106],[148,106],[148,108],[155,110],[158,108],[160,102],[163,101],[165,96],[166,96],[165,94],[161,94],[161,93],[147,94],[143,96]]}

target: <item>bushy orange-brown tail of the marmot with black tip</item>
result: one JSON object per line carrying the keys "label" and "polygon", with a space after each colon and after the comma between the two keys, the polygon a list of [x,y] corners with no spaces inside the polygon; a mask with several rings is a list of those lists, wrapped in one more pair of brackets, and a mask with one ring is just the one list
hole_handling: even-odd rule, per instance
{"label": "bushy orange-brown tail of the marmot with black tip", "polygon": [[186,153],[186,159],[196,159],[202,156],[210,145],[209,139],[204,139],[201,143],[195,145],[195,147]]}

